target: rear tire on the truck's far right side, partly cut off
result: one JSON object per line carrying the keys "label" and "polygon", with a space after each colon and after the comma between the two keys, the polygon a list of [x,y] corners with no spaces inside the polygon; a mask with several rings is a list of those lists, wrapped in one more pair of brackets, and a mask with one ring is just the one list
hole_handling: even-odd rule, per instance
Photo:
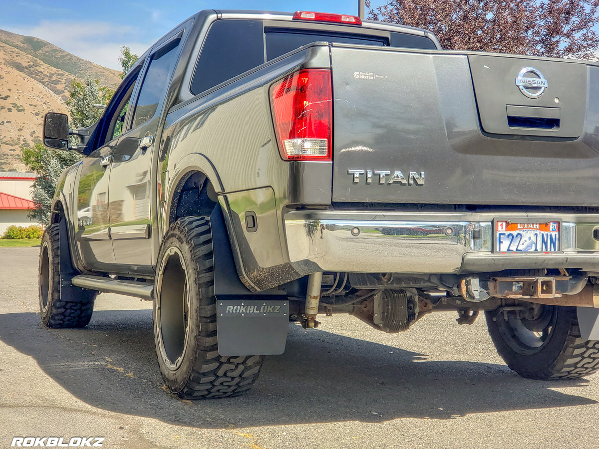
{"label": "rear tire on the truck's far right side, partly cut off", "polygon": [[[497,352],[513,371],[522,377],[550,380],[585,377],[599,369],[599,341],[580,338],[576,307],[544,306],[551,308],[553,328],[546,342],[536,352],[522,354],[510,344],[509,328],[503,313],[485,313],[489,335]],[[507,329],[507,330],[506,330]],[[513,341],[513,340],[512,340]]]}

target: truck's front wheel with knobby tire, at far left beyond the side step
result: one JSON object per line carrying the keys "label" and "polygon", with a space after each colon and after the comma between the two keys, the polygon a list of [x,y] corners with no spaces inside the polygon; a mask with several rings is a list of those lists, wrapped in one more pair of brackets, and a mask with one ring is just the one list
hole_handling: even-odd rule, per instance
{"label": "truck's front wheel with knobby tire, at far left beyond the side step", "polygon": [[[41,322],[48,327],[84,327],[92,318],[98,292],[74,286],[60,289],[60,225],[44,231],[40,247],[39,295]],[[63,279],[62,281],[68,281]],[[62,292],[62,295],[61,295]]]}

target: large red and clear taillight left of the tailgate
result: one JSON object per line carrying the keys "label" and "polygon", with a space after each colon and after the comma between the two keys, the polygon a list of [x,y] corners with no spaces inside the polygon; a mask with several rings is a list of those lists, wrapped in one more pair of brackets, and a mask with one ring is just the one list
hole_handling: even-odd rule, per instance
{"label": "large red and clear taillight left of the tailgate", "polygon": [[305,69],[270,88],[279,151],[285,160],[331,160],[331,71]]}

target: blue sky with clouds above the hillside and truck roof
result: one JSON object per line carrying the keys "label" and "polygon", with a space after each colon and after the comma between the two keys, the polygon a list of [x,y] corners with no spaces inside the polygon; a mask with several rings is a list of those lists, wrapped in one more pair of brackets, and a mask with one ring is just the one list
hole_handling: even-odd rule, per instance
{"label": "blue sky with clouds above the hillside and truck roof", "polygon": [[211,8],[357,14],[358,0],[0,0],[0,29],[38,37],[120,69],[122,45],[142,54],[178,23]]}

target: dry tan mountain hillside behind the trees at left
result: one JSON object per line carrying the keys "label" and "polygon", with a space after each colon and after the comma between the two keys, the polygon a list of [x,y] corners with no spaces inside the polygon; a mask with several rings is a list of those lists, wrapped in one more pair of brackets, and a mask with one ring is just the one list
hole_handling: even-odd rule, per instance
{"label": "dry tan mountain hillside behind the trees at left", "polygon": [[119,72],[34,37],[0,30],[0,170],[20,162],[20,148],[41,142],[47,112],[66,113],[67,88],[87,74],[116,87]]}

